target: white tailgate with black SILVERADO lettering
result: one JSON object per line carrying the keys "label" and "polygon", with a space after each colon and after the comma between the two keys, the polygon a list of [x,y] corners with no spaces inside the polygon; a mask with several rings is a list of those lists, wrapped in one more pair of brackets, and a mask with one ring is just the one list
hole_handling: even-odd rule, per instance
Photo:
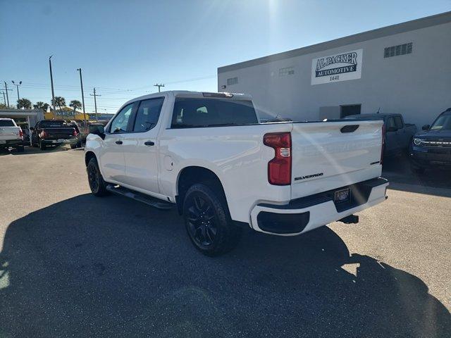
{"label": "white tailgate with black SILVERADO lettering", "polygon": [[291,198],[380,176],[382,125],[380,120],[293,123]]}

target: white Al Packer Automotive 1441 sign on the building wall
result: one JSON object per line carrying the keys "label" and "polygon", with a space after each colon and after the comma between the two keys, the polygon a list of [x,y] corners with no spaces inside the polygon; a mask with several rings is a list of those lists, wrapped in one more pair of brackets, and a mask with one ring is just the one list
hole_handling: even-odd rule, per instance
{"label": "white Al Packer Automotive 1441 sign on the building wall", "polygon": [[311,61],[311,84],[356,80],[362,77],[363,49],[314,58]]}

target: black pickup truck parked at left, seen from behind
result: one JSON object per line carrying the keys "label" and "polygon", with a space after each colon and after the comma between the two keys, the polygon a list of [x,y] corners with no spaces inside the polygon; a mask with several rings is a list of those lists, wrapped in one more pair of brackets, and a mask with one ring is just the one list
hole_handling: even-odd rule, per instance
{"label": "black pickup truck parked at left, seen from behind", "polygon": [[41,150],[60,144],[70,144],[71,148],[75,148],[75,144],[80,142],[77,130],[63,120],[42,120],[30,130],[32,145],[39,146]]}

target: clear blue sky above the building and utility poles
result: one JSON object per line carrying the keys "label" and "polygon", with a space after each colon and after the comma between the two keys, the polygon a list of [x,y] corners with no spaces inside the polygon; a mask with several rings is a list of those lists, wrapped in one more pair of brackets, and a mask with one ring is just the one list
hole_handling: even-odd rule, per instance
{"label": "clear blue sky above the building and utility poles", "polygon": [[[217,68],[451,11],[451,0],[0,0],[0,88],[50,103],[81,99],[87,113],[116,113],[165,90],[216,92]],[[1,90],[0,90],[1,92]],[[3,103],[3,94],[0,93]]]}

